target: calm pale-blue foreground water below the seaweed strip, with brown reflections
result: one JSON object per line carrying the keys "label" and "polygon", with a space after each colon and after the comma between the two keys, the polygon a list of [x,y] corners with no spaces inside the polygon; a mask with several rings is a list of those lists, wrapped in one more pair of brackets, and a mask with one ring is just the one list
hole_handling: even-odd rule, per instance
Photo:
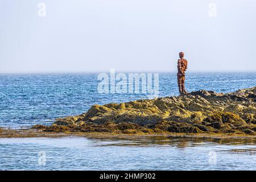
{"label": "calm pale-blue foreground water below the seaweed strip, with brown reflections", "polygon": [[255,170],[255,139],[0,139],[0,169]]}

